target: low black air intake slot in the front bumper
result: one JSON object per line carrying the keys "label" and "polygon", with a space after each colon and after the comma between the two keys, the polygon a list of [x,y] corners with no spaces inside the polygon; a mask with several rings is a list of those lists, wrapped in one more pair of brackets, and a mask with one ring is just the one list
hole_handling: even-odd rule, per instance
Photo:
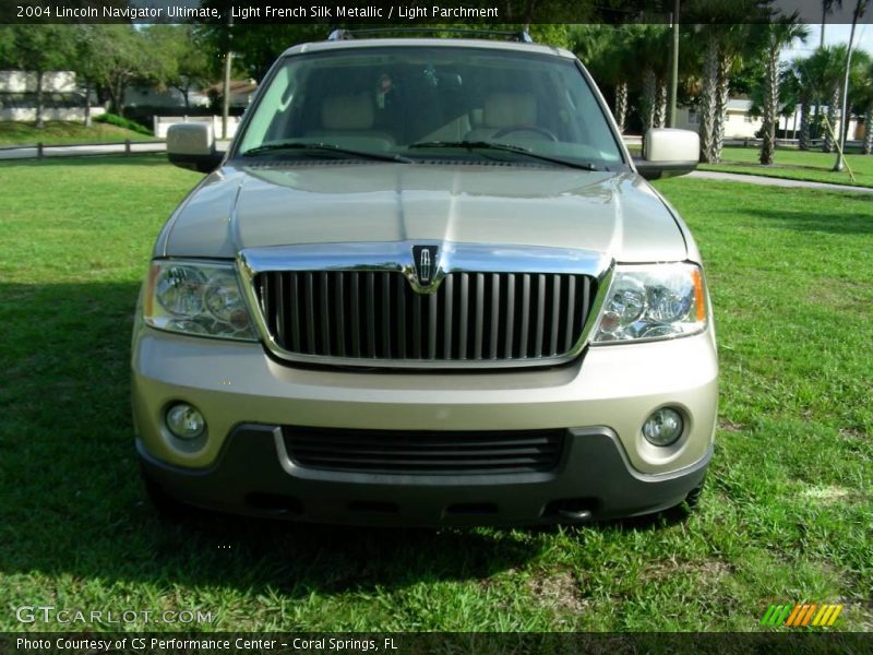
{"label": "low black air intake slot in the front bumper", "polygon": [[431,432],[283,428],[306,468],[403,475],[507,474],[558,466],[564,430]]}

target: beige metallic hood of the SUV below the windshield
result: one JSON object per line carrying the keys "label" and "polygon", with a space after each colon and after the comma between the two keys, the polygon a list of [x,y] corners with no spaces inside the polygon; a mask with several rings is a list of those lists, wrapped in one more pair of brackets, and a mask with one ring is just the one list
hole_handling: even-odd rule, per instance
{"label": "beige metallic hood of the SUV below the windshield", "polygon": [[670,211],[630,171],[357,160],[226,166],[177,210],[156,254],[409,240],[581,249],[624,262],[687,254]]}

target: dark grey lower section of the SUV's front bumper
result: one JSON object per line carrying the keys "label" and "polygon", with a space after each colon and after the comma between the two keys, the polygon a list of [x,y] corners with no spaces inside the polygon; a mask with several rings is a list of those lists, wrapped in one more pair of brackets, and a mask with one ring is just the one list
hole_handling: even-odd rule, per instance
{"label": "dark grey lower section of the SUV's front bumper", "polygon": [[212,510],[333,524],[536,525],[647,514],[681,503],[703,483],[711,449],[669,475],[633,471],[607,428],[567,430],[549,473],[393,476],[308,471],[277,426],[239,426],[216,464],[172,466],[136,441],[144,474],[176,499]]}

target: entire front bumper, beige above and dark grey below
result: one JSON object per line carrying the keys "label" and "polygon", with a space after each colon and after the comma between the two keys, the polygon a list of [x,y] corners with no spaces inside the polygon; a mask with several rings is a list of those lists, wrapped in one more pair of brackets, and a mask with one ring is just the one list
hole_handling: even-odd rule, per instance
{"label": "entire front bumper, beige above and dark grey below", "polygon": [[[140,325],[133,410],[146,475],[202,507],[331,523],[535,524],[659,511],[697,487],[711,454],[718,366],[710,331],[590,347],[552,369],[386,372],[291,368],[260,344]],[[164,415],[196,406],[188,444]],[[655,448],[641,426],[679,407],[686,429]],[[566,431],[559,465],[513,475],[398,476],[314,471],[284,451],[279,426],[372,430]],[[563,512],[563,513],[562,513]]]}

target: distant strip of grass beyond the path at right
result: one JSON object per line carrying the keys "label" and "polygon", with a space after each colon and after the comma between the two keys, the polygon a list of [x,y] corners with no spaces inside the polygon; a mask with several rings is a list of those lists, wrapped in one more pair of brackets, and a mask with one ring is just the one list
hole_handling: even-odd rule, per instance
{"label": "distant strip of grass beyond the path at right", "polygon": [[846,160],[854,172],[854,181],[849,176],[848,169],[844,169],[842,172],[832,170],[836,162],[836,153],[778,148],[770,166],[758,164],[760,156],[761,150],[757,147],[727,146],[721,155],[721,164],[701,164],[699,168],[812,182],[873,187],[873,156],[871,155],[846,155]]}

